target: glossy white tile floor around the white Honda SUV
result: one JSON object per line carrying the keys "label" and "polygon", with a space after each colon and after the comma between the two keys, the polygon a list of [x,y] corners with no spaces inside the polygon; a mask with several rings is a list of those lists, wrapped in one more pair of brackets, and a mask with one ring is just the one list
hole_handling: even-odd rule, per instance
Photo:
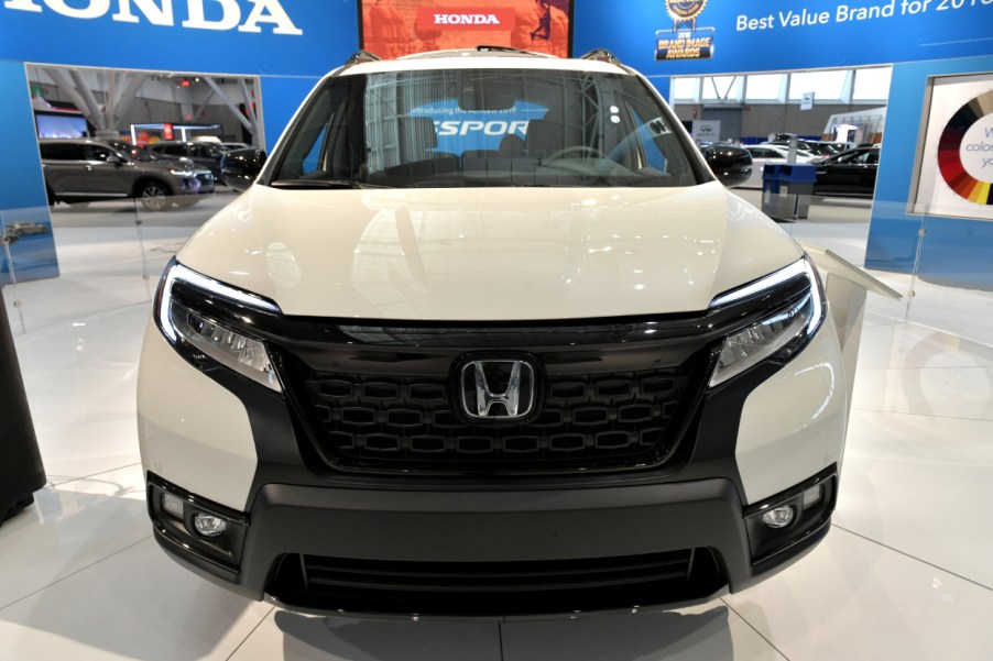
{"label": "glossy white tile floor around the white Honda SUV", "polygon": [[[870,300],[833,530],[757,587],[564,621],[314,618],[232,596],[150,537],[141,274],[198,218],[145,223],[139,246],[126,211],[54,217],[62,277],[4,289],[50,484],[0,528],[0,659],[993,659],[993,294],[875,274],[917,296],[909,322],[906,302]],[[861,262],[866,219],[829,201],[788,229]]]}

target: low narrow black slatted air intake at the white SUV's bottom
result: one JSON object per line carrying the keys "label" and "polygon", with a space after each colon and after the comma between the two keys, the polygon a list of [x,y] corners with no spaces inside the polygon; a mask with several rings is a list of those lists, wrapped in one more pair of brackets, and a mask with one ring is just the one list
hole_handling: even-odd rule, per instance
{"label": "low narrow black slatted air intake at the white SUV's bottom", "polygon": [[266,592],[298,608],[498,616],[672,604],[706,597],[723,583],[708,549],[516,562],[291,554]]}

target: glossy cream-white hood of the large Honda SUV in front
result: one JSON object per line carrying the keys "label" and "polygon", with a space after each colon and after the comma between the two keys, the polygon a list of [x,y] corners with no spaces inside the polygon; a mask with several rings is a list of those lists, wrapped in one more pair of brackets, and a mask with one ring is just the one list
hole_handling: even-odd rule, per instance
{"label": "glossy cream-white hood of the large Honda SUV in front", "polygon": [[801,255],[719,183],[690,188],[252,186],[186,266],[286,315],[437,321],[705,310]]}

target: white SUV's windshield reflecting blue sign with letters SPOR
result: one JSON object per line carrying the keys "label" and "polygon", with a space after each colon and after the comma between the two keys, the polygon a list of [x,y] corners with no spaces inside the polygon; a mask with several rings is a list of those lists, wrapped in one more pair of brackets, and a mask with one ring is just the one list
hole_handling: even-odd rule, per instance
{"label": "white SUV's windshield reflecting blue sign with letters SPOR", "polygon": [[329,78],[295,123],[276,187],[690,186],[635,76],[531,69]]}

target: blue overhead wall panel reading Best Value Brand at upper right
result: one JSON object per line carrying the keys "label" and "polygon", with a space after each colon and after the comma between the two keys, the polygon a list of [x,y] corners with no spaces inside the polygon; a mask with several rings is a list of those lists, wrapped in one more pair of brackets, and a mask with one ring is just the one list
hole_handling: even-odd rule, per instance
{"label": "blue overhead wall panel reading Best Value Brand at upper right", "polygon": [[[713,57],[656,62],[655,33],[672,33],[673,29],[663,0],[576,0],[572,49],[581,55],[608,48],[645,75],[664,76],[838,68],[969,57],[993,51],[993,4],[974,0],[973,5],[973,0],[964,0],[961,9],[951,9],[951,0],[928,0],[927,10],[910,14],[902,11],[902,2],[709,0],[697,18],[697,26],[713,27]],[[839,20],[844,18],[839,14],[843,7],[891,4],[892,16]],[[789,25],[788,15],[799,12],[806,12],[808,19],[826,13],[828,20]],[[768,27],[759,29],[757,23],[755,29],[748,27],[749,20],[762,19],[771,19]]]}

